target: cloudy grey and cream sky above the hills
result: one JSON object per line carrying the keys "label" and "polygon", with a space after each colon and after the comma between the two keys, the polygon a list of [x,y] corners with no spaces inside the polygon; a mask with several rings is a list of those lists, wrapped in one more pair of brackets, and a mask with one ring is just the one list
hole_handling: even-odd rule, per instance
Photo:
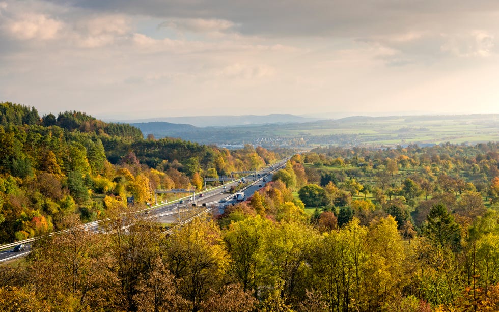
{"label": "cloudy grey and cream sky above the hills", "polygon": [[0,101],[101,119],[499,113],[496,0],[0,0]]}

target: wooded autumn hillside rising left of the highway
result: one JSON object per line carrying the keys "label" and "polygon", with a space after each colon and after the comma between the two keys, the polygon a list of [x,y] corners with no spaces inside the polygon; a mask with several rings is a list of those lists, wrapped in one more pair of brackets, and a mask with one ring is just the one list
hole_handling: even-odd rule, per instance
{"label": "wooded autumn hillside rising left of the highway", "polygon": [[40,117],[10,102],[0,103],[0,146],[0,243],[64,229],[72,214],[84,222],[104,218],[128,196],[146,207],[154,189],[200,190],[204,177],[261,168],[277,157],[261,147],[144,139],[128,124],[77,111]]}

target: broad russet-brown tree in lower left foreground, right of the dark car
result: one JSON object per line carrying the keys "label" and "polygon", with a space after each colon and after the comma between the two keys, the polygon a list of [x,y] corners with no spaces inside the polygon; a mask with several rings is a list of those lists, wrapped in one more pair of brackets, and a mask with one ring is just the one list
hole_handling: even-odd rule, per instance
{"label": "broad russet-brown tree in lower left foreground, right of the dark car", "polygon": [[[80,309],[112,307],[118,279],[106,243],[70,221],[70,230],[41,238],[30,255],[33,284],[50,300],[74,298]],[[68,300],[68,299],[66,299]]]}

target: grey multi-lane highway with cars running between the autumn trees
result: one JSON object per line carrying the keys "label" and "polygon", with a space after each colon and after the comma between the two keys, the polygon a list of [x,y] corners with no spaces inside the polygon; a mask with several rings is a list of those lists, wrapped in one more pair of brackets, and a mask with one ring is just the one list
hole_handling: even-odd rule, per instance
{"label": "grey multi-lane highway with cars running between the autumn trees", "polygon": [[[245,180],[246,183],[248,183],[248,186],[246,186],[243,190],[241,190],[244,192],[245,197],[248,198],[252,196],[254,192],[256,192],[258,189],[261,188],[260,185],[263,187],[265,183],[272,181],[272,173],[282,168],[286,164],[286,161],[288,159],[289,158],[285,158],[278,163],[275,163],[273,165],[261,169],[260,171],[257,171],[255,174],[256,177],[253,175],[246,176]],[[267,178],[267,181],[263,181],[264,177]],[[206,206],[208,207],[219,207],[219,208],[221,207],[221,209],[223,209],[224,206],[232,205],[232,203],[236,202],[232,198],[234,195],[228,193],[228,190],[230,189],[231,185],[238,183],[238,181],[240,181],[240,179],[236,180],[235,182],[224,184],[223,186],[218,186],[209,189],[207,191],[197,193],[193,198],[193,201],[189,201],[189,197],[192,196],[189,195],[183,198],[178,198],[177,200],[169,203],[164,203],[157,206],[153,206],[151,208],[144,209],[142,211],[139,211],[138,213],[142,213],[147,218],[154,218],[163,223],[175,223],[178,221],[178,209],[180,209],[181,213],[182,211],[187,211],[188,209],[192,209],[193,202],[196,203],[197,207],[206,204]],[[224,186],[226,187],[225,189]],[[201,197],[200,194],[203,194],[203,196]],[[181,200],[183,201],[183,204],[179,203]],[[82,226],[84,226],[85,229],[87,229],[90,232],[97,233],[102,231],[102,229],[99,227],[99,222],[100,221],[85,223]],[[34,241],[36,241],[36,239],[37,238],[31,238],[16,243],[0,246],[0,262],[26,256],[28,253],[30,253],[31,245],[33,244]],[[14,246],[19,244],[23,244],[25,246],[25,250],[17,252],[14,251]]]}

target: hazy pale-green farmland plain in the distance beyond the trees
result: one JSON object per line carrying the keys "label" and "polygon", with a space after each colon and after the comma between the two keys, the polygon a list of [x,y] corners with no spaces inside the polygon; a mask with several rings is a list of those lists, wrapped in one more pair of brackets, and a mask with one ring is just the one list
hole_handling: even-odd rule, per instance
{"label": "hazy pale-green farmland plain in the distance beyond the trees", "polygon": [[[147,133],[144,133],[145,135]],[[272,147],[476,144],[499,140],[499,115],[349,117],[307,123],[192,127],[153,132],[202,144]]]}

